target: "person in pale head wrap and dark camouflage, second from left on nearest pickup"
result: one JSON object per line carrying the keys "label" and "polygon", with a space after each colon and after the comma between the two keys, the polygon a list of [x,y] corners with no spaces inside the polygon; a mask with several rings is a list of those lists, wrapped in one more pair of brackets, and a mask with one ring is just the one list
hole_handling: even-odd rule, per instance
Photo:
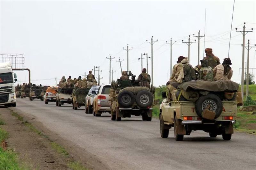
{"label": "person in pale head wrap and dark camouflage, second from left on nearest pickup", "polygon": [[184,78],[182,82],[196,80],[195,69],[188,63],[188,59],[185,58],[181,61],[183,65]]}

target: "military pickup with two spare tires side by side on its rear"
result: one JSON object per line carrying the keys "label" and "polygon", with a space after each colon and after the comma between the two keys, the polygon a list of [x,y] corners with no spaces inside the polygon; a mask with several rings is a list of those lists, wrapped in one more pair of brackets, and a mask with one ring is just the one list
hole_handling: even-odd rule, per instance
{"label": "military pickup with two spare tires side by side on its rear", "polygon": [[129,76],[131,80],[118,79],[111,83],[111,120],[121,121],[122,117],[141,115],[143,121],[151,121],[155,88],[140,87],[131,71]]}

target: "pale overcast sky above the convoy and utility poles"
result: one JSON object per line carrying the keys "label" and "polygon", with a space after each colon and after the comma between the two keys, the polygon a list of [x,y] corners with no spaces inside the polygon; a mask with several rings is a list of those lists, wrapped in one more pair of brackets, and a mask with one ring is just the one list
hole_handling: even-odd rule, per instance
{"label": "pale overcast sky above the convoy and utility poles", "polygon": [[[170,77],[170,45],[172,63],[180,55],[188,56],[188,45],[181,40],[194,41],[198,30],[204,34],[206,9],[205,48],[223,59],[228,57],[228,42],[233,0],[221,1],[3,1],[0,0],[0,53],[24,53],[25,67],[31,70],[32,83],[55,85],[55,77],[72,78],[88,74],[100,66],[101,83],[109,81],[109,54],[115,57],[111,67],[113,78],[127,70],[127,44],[129,70],[139,75],[141,53],[151,56],[151,36],[154,41],[154,85],[165,84]],[[241,80],[242,34],[236,32],[254,28],[245,36],[247,44],[256,43],[256,1],[236,0],[231,34],[230,58],[234,71],[232,80]],[[203,58],[204,38],[200,40],[200,58]],[[197,64],[198,43],[190,46],[190,64]],[[255,48],[250,50],[250,67],[256,67]],[[247,51],[245,51],[247,61]],[[146,68],[143,60],[143,68]],[[151,75],[151,60],[148,61]],[[256,69],[250,72],[256,73]],[[28,81],[27,71],[16,71],[19,81]],[[95,77],[98,73],[95,72]],[[45,80],[50,79],[50,80]],[[34,81],[33,81],[34,80]],[[58,83],[57,82],[57,83]],[[19,82],[20,83],[20,82]],[[240,83],[240,82],[239,82]]]}

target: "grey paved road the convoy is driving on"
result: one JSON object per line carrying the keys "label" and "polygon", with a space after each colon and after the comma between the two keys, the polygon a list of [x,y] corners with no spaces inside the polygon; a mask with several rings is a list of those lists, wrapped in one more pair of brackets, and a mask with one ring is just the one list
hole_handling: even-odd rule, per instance
{"label": "grey paved road the convoy is driving on", "polygon": [[[62,105],[63,106],[63,105]],[[43,101],[18,99],[17,111],[33,116],[70,144],[96,155],[110,169],[254,169],[256,136],[235,132],[231,141],[192,132],[175,141],[173,129],[161,138],[159,120],[141,117],[111,121],[109,114],[94,117],[71,105],[56,107]]]}

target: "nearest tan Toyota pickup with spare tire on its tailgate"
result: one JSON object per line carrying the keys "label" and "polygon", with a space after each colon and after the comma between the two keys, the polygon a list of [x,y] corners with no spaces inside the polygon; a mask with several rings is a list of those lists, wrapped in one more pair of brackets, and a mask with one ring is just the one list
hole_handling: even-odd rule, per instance
{"label": "nearest tan Toyota pickup with spare tire on its tailgate", "polygon": [[[198,92],[196,101],[167,102],[166,93],[163,92],[164,100],[160,105],[159,115],[161,137],[168,137],[169,129],[174,127],[174,137],[177,141],[183,140],[184,135],[190,135],[195,130],[203,130],[209,133],[210,137],[222,135],[224,140],[230,140],[234,133],[233,125],[236,122],[238,94],[236,92],[239,86],[235,82],[232,82],[232,86],[230,82],[228,82],[229,85],[226,85],[227,87],[220,90],[218,90],[219,86],[214,87],[214,83],[218,84],[218,82],[211,82],[215,92],[206,91],[211,90],[209,86],[203,87],[202,90],[200,85],[197,88],[195,84],[200,84],[200,82],[195,82],[195,86],[192,85],[192,87],[188,85],[191,82],[186,82],[187,85],[181,86],[181,90],[191,91],[193,89]],[[226,99],[224,93],[227,90],[229,94],[233,92],[234,96]],[[223,95],[221,95],[222,93]]]}

